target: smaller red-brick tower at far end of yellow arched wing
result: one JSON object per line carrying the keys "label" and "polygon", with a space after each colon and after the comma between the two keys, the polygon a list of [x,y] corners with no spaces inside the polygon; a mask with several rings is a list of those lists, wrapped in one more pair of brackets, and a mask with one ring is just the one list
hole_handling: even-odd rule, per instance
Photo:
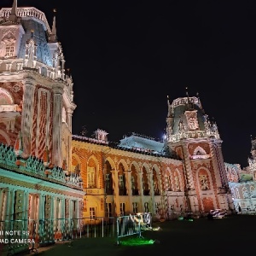
{"label": "smaller red-brick tower at far end of yellow arched wing", "polygon": [[166,145],[183,160],[185,208],[190,212],[233,210],[218,126],[210,121],[199,96],[168,99]]}

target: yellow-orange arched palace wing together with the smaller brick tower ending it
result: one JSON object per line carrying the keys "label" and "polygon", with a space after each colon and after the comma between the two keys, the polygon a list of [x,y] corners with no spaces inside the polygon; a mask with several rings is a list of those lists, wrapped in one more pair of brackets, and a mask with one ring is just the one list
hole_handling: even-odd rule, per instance
{"label": "yellow-orange arched palace wing together with the smaller brick tower ending it", "polygon": [[218,127],[199,97],[168,99],[166,139],[132,133],[119,143],[108,133],[73,136],[73,170],[84,186],[84,217],[152,212],[175,218],[211,209],[233,212]]}

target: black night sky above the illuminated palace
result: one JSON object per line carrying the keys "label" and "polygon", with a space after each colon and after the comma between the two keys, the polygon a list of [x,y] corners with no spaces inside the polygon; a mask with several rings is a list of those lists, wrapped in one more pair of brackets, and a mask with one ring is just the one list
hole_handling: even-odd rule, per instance
{"label": "black night sky above the illuminated palace", "polygon": [[[1,0],[10,7],[12,0]],[[247,166],[256,136],[255,1],[18,0],[42,10],[74,83],[73,134],[97,128],[118,142],[161,138],[166,96],[199,93],[218,125],[224,161]]]}

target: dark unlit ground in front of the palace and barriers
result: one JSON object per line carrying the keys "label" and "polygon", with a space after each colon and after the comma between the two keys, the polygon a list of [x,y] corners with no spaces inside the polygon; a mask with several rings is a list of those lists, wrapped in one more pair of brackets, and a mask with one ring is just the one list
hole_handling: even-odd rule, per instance
{"label": "dark unlit ground in front of the palace and barriers", "polygon": [[175,253],[179,256],[192,253],[197,256],[255,255],[256,216],[172,220],[154,224],[154,227],[157,225],[160,230],[143,232],[144,239],[155,241],[153,245],[125,246],[121,243],[117,246],[114,238],[80,238],[38,248],[38,255],[151,256],[166,252],[168,255]]}

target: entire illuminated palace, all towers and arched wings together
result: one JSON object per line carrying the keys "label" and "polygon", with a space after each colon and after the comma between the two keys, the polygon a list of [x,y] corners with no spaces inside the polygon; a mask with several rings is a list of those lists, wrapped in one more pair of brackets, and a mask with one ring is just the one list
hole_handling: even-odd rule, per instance
{"label": "entire illuminated palace, all towers and arched wings together", "polygon": [[41,232],[43,242],[74,219],[253,208],[256,143],[246,170],[224,163],[218,127],[198,96],[168,99],[163,142],[132,133],[112,143],[101,129],[72,135],[75,108],[55,17],[50,27],[38,9],[16,1],[1,9],[1,225],[27,219],[20,229]]}

